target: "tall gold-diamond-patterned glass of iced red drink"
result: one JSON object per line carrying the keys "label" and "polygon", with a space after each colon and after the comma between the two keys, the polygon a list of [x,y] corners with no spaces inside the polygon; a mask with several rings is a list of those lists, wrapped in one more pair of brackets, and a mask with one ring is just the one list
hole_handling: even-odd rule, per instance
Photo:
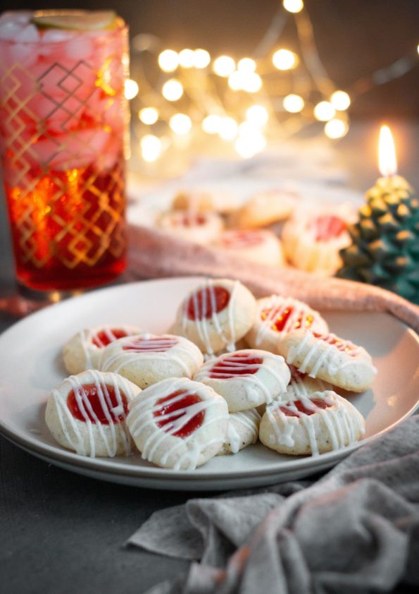
{"label": "tall gold-diamond-patterned glass of iced red drink", "polygon": [[[73,26],[83,23],[75,14]],[[127,27],[116,16],[89,30],[33,16],[0,18],[0,152],[16,272],[30,289],[83,289],[125,268]]]}

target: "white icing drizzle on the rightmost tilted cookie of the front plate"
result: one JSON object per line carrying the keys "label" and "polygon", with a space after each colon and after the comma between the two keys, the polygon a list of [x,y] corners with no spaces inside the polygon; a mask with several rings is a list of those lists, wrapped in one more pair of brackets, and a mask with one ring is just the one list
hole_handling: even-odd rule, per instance
{"label": "white icing drizzle on the rightmost tilted cookie of the front plate", "polygon": [[[365,351],[361,346],[356,346],[350,341],[344,341],[334,334],[322,334],[315,337],[309,330],[298,344],[291,346],[287,354],[287,363],[294,364],[300,353],[304,351],[308,341],[312,341],[306,356],[299,365],[303,373],[315,377],[320,367],[324,364],[329,375],[336,375],[340,370],[349,365],[368,365],[373,367],[368,360],[365,360]],[[338,344],[334,344],[338,341]],[[342,356],[343,355],[343,356]]]}

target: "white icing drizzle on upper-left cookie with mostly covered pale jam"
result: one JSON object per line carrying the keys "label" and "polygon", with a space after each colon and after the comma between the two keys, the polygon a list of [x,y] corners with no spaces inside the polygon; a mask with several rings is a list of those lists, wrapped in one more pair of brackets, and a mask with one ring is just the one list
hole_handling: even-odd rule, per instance
{"label": "white icing drizzle on upper-left cookie with mostly covered pale jam", "polygon": [[172,360],[180,366],[182,371],[190,377],[191,368],[187,361],[194,362],[197,367],[201,363],[199,351],[180,343],[179,337],[172,334],[139,334],[125,339],[119,339],[108,345],[104,350],[99,367],[102,371],[112,370],[119,373],[125,365],[136,360]]}

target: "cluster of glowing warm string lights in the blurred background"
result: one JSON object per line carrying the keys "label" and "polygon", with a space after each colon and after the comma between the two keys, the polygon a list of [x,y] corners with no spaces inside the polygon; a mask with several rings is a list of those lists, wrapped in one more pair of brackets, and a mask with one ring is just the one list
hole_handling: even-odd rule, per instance
{"label": "cluster of glowing warm string lights in the blurred background", "polygon": [[[304,2],[283,0],[280,9],[282,12],[299,13],[304,11]],[[135,99],[139,95],[132,102],[132,109],[135,109],[138,116],[134,123],[137,122],[138,126],[140,122],[146,126],[159,123],[156,128],[159,131],[158,136],[145,135],[140,141],[140,154],[144,160],[155,161],[170,145],[177,150],[180,145],[182,148],[189,146],[192,150],[192,142],[198,140],[199,135],[190,132],[195,132],[197,128],[231,142],[243,157],[251,157],[263,150],[266,144],[265,133],[268,138],[280,139],[282,133],[292,135],[304,130],[315,120],[324,122],[323,129],[327,138],[342,138],[349,130],[346,110],[356,97],[379,84],[399,78],[416,65],[413,56],[408,54],[377,69],[368,78],[354,83],[351,96],[343,90],[332,92],[330,89],[333,90],[336,86],[328,78],[318,55],[308,13],[304,11],[301,16],[294,17],[297,37],[295,43],[292,43],[301,49],[299,55],[284,47],[272,49],[273,32],[277,39],[280,38],[281,23],[285,22],[283,13],[280,17],[279,20],[275,17],[270,24],[254,56],[242,57],[237,60],[237,64],[232,57],[226,55],[218,56],[211,63],[211,55],[203,48],[184,48],[179,52],[164,49],[159,54],[161,42],[153,35],[137,35],[132,40],[132,52],[137,54],[137,59],[142,60],[145,51],[155,53],[161,73],[176,72],[171,75],[173,78],[170,80],[164,79],[165,83],[159,89],[151,77],[148,78],[147,61],[141,64],[141,68],[135,69],[142,73],[139,80],[141,95],[135,80],[127,80],[125,85],[125,96],[128,99]],[[292,18],[289,15],[287,17]],[[419,45],[417,49],[419,53]],[[135,57],[132,56],[132,63]],[[304,67],[299,68],[298,76],[289,75],[287,71],[296,68],[300,60]],[[404,67],[396,68],[402,62]],[[208,70],[203,78],[199,70],[204,68]],[[223,80],[215,80],[218,76],[225,78],[225,83]],[[154,77],[154,80],[161,78]],[[301,95],[296,92],[301,92]],[[247,94],[254,95],[250,107],[250,97]],[[171,102],[176,102],[181,97],[184,113],[174,114]],[[318,97],[315,106],[311,104],[312,97]],[[150,103],[154,107],[150,107]],[[203,110],[205,117],[202,116]],[[244,114],[245,120],[239,123]],[[165,125],[172,133],[160,136]],[[140,128],[140,133],[141,131]],[[183,135],[181,143],[175,142],[175,135]]]}

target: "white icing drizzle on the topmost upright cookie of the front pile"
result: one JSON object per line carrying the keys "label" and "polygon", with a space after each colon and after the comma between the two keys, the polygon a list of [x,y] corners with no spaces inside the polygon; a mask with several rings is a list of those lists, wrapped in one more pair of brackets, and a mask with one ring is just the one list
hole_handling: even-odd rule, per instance
{"label": "white icing drizzle on the topmost upright cookie of the front pile", "polygon": [[[217,297],[215,295],[217,281],[214,281],[213,279],[206,279],[204,286],[201,285],[197,287],[192,292],[192,294],[185,299],[182,315],[182,329],[185,334],[185,337],[188,337],[188,325],[194,323],[196,326],[196,330],[199,334],[199,339],[204,344],[206,353],[208,353],[208,355],[210,356],[214,355],[214,351],[211,345],[211,338],[209,336],[209,320],[213,322],[215,332],[217,332],[218,336],[221,337],[221,339],[223,340],[223,343],[226,346],[226,350],[230,352],[235,351],[236,337],[234,332],[234,298],[235,293],[237,291],[237,285],[238,281],[234,281],[232,291],[230,292],[230,298],[227,303],[227,333],[223,330],[223,328],[220,325],[220,312],[217,313]],[[223,285],[220,285],[220,287],[227,291],[227,289],[225,289]],[[206,313],[208,311],[207,292],[209,294],[209,298],[211,301],[211,317],[206,317]],[[199,307],[199,294],[201,294],[201,308]],[[188,317],[188,307],[189,301],[191,299],[194,305],[194,320],[190,320]],[[221,311],[224,311],[224,309]]]}

